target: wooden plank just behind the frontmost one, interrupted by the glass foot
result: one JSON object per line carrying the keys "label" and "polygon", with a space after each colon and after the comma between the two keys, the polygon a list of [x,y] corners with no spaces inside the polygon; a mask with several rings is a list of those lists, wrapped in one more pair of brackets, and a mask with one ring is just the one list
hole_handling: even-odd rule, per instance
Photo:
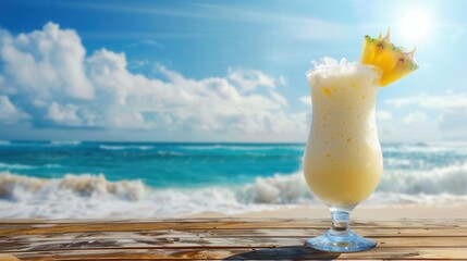
{"label": "wooden plank just behind the frontmost one, interrupted by the glass foot", "polygon": [[[373,238],[379,248],[467,248],[467,237],[409,237]],[[58,251],[86,249],[169,249],[169,248],[276,248],[290,245],[304,245],[305,238],[232,238],[232,237],[133,237],[133,238],[96,238],[67,240],[15,240],[0,243],[4,253],[26,251]]]}

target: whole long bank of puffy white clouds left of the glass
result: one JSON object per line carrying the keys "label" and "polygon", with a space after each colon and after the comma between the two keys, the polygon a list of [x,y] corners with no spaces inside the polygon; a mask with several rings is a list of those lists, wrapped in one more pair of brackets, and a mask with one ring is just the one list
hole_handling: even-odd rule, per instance
{"label": "whole long bank of puffy white clouds left of the glass", "polygon": [[307,127],[306,115],[284,112],[287,100],[275,88],[283,79],[261,71],[236,67],[226,76],[194,79],[158,64],[160,77],[133,74],[125,53],[101,49],[85,57],[77,34],[52,23],[16,37],[3,30],[0,50],[5,64],[0,95],[22,99],[35,122],[54,127],[219,133]]}

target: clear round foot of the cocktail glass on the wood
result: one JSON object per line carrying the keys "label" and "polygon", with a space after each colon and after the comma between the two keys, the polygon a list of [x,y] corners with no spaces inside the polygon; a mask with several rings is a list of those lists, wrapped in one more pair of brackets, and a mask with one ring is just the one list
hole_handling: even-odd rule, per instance
{"label": "clear round foot of the cocktail glass on the wood", "polygon": [[329,229],[321,236],[307,239],[305,246],[328,252],[359,252],[374,248],[377,243],[347,228],[344,232]]}

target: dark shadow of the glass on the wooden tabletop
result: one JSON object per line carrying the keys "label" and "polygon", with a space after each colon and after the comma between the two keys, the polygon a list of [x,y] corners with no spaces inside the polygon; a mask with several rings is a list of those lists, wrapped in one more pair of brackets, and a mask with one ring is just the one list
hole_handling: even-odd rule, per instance
{"label": "dark shadow of the glass on the wooden tabletop", "polygon": [[279,248],[267,248],[259,249],[249,252],[238,253],[232,257],[229,257],[224,260],[296,260],[296,259],[307,259],[307,260],[332,260],[336,259],[340,253],[333,252],[323,252],[315,250],[304,246],[290,246],[290,247],[279,247]]}

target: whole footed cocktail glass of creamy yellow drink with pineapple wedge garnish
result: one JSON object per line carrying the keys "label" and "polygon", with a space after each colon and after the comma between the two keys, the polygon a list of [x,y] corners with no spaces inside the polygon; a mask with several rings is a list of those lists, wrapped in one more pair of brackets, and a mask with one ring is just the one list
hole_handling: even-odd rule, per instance
{"label": "whole footed cocktail glass of creamy yellow drink with pineapple wedge garnish", "polygon": [[351,211],[371,195],[383,171],[374,119],[378,89],[418,69],[414,51],[381,38],[365,37],[360,63],[324,58],[307,72],[312,120],[304,157],[308,186],[331,211],[331,229],[305,246],[321,251],[357,252],[374,240],[348,227]]}

